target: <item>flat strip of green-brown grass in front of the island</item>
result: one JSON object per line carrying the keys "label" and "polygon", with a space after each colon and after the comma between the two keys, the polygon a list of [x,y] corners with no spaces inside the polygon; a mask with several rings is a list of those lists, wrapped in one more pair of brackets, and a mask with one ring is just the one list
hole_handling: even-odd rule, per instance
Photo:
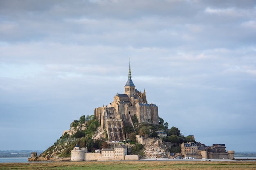
{"label": "flat strip of green-brown grass in front of the island", "polygon": [[253,161],[82,161],[0,163],[0,170],[256,170]]}

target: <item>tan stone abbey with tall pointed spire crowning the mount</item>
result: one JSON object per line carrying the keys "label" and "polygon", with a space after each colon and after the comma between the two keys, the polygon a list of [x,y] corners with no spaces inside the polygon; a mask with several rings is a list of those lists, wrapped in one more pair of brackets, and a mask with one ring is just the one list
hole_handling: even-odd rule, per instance
{"label": "tan stone abbey with tall pointed spire crowning the mount", "polygon": [[109,141],[125,139],[124,125],[132,123],[137,116],[138,123],[158,124],[158,107],[148,104],[146,92],[139,92],[132,82],[132,75],[128,71],[128,80],[124,86],[124,94],[116,94],[114,100],[108,105],[94,109],[94,116],[101,125],[101,131],[106,130]]}

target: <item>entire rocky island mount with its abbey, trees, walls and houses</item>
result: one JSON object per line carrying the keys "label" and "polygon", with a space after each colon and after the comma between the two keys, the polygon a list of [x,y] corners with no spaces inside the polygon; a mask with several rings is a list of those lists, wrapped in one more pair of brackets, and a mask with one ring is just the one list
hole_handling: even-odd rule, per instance
{"label": "entire rocky island mount with its abbey, trees, walls and houses", "polygon": [[157,158],[234,159],[225,144],[205,146],[193,135],[184,137],[178,128],[168,129],[158,107],[148,103],[146,91],[132,82],[130,63],[124,94],[116,94],[108,105],[81,116],[70,129],[40,156],[29,161],[137,160]]}

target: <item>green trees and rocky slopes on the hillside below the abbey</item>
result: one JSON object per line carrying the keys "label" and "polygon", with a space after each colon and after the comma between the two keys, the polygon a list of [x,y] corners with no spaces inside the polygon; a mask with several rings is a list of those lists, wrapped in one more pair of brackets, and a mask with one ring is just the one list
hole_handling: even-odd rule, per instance
{"label": "green trees and rocky slopes on the hillside below the abbey", "polygon": [[[146,124],[138,123],[136,116],[132,119],[133,128],[130,125],[123,127],[124,135],[126,139],[123,143],[129,142],[131,149],[128,150],[128,154],[136,154],[139,157],[144,157],[144,148],[141,144],[136,144],[136,135],[144,137],[158,137],[156,131],[165,131],[168,136],[162,137],[162,141],[171,142],[173,146],[167,148],[168,152],[180,152],[180,143],[182,142],[195,142],[191,136],[183,137],[180,136],[180,130],[176,127],[172,127],[168,130],[168,123],[164,123],[162,118],[159,118],[159,124]],[[105,133],[97,135],[97,129],[100,124],[98,120],[91,116],[81,116],[79,120],[74,120],[70,124],[70,130],[65,132],[52,146],[40,154],[39,158],[32,159],[31,161],[45,161],[49,159],[59,159],[71,157],[71,150],[76,144],[79,147],[87,147],[88,152],[94,152],[102,148],[110,148],[111,143],[108,141],[108,135]],[[96,137],[97,136],[97,137]]]}

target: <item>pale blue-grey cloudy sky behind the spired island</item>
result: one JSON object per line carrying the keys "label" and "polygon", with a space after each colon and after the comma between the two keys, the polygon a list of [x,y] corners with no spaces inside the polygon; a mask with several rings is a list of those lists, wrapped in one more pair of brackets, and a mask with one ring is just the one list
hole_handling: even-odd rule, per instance
{"label": "pale blue-grey cloudy sky behind the spired island", "polygon": [[1,0],[0,150],[46,150],[129,60],[169,128],[256,151],[255,0]]}

